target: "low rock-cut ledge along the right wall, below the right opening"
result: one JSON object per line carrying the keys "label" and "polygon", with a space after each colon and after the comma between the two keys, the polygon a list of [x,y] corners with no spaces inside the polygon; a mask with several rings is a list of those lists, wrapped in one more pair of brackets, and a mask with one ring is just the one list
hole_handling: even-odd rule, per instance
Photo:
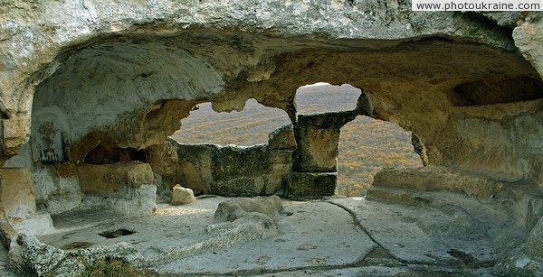
{"label": "low rock-cut ledge along the right wall, below the right opening", "polygon": [[510,182],[452,172],[443,167],[379,171],[367,197],[399,203],[419,201],[406,197],[409,193],[406,194],[405,190],[460,192],[494,208],[505,209],[510,218],[527,230],[534,228],[543,216],[543,190],[530,182],[519,181],[511,185]]}

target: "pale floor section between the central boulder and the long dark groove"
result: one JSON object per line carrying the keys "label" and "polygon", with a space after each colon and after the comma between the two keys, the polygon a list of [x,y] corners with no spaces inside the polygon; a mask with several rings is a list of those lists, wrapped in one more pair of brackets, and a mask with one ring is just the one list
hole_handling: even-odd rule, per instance
{"label": "pale floor section between the central boulder and the long dark groove", "polygon": [[160,273],[235,275],[357,263],[376,245],[342,208],[325,202],[284,202],[291,216],[278,221],[279,235],[217,249],[155,267]]}

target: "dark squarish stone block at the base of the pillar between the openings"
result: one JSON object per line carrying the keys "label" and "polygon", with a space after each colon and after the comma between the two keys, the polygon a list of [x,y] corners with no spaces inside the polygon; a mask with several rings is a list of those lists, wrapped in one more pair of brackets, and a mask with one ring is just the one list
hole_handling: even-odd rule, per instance
{"label": "dark squarish stone block at the base of the pillar between the openings", "polygon": [[316,198],[336,193],[337,173],[292,172],[286,196],[291,198]]}

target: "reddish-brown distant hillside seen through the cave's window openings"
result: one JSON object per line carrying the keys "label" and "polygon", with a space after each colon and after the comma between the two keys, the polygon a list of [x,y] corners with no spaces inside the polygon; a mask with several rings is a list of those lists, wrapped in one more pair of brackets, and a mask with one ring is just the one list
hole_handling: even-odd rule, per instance
{"label": "reddish-brown distant hillside seen through the cave's window openings", "polygon": [[[299,88],[298,112],[316,113],[352,110],[360,91],[348,85]],[[280,109],[258,104],[251,99],[243,112],[215,113],[209,103],[181,121],[181,129],[171,137],[179,143],[253,145],[268,142],[268,134],[291,124]],[[411,134],[399,126],[358,116],[341,129],[338,154],[338,194],[364,195],[373,176],[382,168],[422,166],[414,153]]]}

